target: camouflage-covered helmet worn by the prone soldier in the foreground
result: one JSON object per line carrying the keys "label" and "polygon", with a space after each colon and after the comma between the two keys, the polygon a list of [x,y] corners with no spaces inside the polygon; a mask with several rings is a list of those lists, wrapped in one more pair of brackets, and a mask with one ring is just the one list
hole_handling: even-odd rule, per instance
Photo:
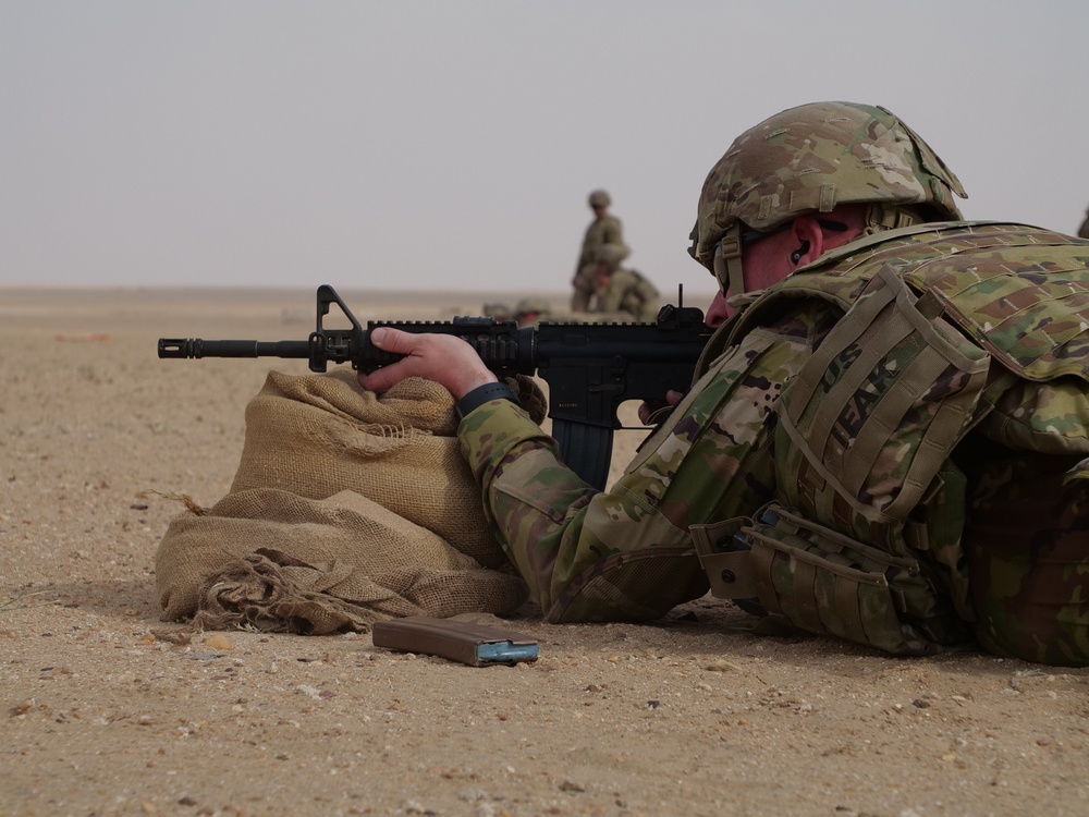
{"label": "camouflage-covered helmet worn by the prone soldier in the foreground", "polygon": [[736,139],[708,173],[689,254],[725,292],[744,291],[743,243],[807,212],[869,203],[867,233],[958,220],[960,182],[930,146],[884,108],[813,102]]}

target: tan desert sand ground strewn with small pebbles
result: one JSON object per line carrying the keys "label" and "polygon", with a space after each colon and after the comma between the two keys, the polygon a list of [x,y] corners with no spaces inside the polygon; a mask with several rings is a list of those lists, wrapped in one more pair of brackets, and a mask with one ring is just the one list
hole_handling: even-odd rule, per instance
{"label": "tan desert sand ground strewn with small pebbles", "polygon": [[[502,300],[342,294],[360,318]],[[142,492],[215,503],[266,371],[305,365],[156,339],[303,338],[313,300],[0,289],[0,815],[1086,814],[1084,670],[758,637],[711,599],[646,626],[527,608],[540,660],[488,669],[160,621],[181,508]]]}

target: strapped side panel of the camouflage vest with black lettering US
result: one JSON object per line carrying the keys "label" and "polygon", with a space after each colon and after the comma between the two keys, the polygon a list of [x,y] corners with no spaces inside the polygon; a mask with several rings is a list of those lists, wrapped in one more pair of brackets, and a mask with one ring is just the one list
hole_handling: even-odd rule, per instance
{"label": "strapped side panel of the camouflage vest with black lettering US", "polygon": [[895,522],[920,501],[974,419],[989,362],[940,313],[883,268],[829,332],[775,405],[790,438],[780,471],[796,475],[781,483],[787,504],[831,522],[839,497]]}

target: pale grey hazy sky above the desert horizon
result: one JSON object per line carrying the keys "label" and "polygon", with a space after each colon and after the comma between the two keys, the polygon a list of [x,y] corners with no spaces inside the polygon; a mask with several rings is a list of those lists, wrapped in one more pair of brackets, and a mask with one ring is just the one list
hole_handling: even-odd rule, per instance
{"label": "pale grey hazy sky above the desert horizon", "polygon": [[1087,42],[1086,0],[0,0],[0,284],[560,292],[604,187],[631,266],[709,292],[707,171],[819,99],[1073,232]]}

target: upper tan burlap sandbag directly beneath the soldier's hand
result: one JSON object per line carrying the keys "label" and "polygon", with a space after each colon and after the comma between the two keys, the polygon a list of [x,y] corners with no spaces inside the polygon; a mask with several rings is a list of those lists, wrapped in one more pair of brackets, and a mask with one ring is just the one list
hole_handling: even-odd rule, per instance
{"label": "upper tan burlap sandbag directly beneath the soldier's hand", "polygon": [[409,378],[380,398],[355,373],[270,371],[246,406],[231,492],[279,488],[310,499],[343,490],[425,527],[481,564],[505,563],[461,455],[450,393]]}

